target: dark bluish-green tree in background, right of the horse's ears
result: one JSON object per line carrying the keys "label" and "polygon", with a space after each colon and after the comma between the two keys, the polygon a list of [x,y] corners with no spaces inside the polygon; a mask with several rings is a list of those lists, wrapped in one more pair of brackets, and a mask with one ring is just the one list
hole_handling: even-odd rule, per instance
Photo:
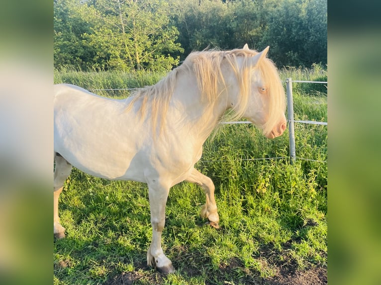
{"label": "dark bluish-green tree in background, right of the horse's ears", "polygon": [[282,0],[267,22],[262,43],[278,65],[327,62],[327,0]]}

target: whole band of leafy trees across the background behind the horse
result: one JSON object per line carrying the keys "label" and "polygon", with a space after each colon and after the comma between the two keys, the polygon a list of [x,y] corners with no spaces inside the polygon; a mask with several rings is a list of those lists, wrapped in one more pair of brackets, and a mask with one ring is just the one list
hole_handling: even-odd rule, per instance
{"label": "whole band of leafy trees across the background behind the horse", "polygon": [[54,0],[54,64],[169,71],[192,50],[270,46],[278,66],[327,63],[327,0]]}

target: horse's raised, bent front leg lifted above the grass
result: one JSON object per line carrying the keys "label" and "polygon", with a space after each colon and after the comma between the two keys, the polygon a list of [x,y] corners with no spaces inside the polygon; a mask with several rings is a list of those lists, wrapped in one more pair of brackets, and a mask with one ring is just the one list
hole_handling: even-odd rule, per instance
{"label": "horse's raised, bent front leg lifted above the grass", "polygon": [[202,206],[200,215],[202,218],[208,218],[211,226],[218,228],[219,215],[217,213],[216,201],[214,200],[213,181],[194,168],[186,180],[201,186],[204,190],[206,203]]}

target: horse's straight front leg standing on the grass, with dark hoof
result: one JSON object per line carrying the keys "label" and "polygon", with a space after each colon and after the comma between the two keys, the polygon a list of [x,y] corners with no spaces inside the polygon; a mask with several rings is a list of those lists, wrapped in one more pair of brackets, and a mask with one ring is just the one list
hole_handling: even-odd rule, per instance
{"label": "horse's straight front leg standing on the grass, with dark hoof", "polygon": [[175,269],[163,253],[161,235],[165,225],[165,207],[169,188],[159,183],[158,179],[148,184],[148,195],[151,208],[152,242],[147,251],[147,264],[164,274],[174,273]]}

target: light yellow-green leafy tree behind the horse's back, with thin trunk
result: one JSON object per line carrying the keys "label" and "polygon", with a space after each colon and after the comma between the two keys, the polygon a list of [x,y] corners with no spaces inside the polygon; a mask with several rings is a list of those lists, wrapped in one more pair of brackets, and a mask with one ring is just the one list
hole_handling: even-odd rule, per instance
{"label": "light yellow-green leafy tree behind the horse's back, with thin trunk", "polygon": [[99,22],[84,34],[97,50],[97,68],[171,70],[179,63],[172,55],[183,52],[179,32],[169,25],[171,10],[165,0],[97,0],[89,6]]}

